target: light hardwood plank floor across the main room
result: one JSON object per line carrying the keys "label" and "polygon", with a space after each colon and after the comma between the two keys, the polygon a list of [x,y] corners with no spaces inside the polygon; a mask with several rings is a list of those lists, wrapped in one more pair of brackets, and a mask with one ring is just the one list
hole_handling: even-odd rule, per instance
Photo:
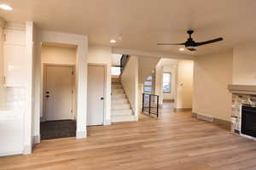
{"label": "light hardwood plank floor across the main room", "polygon": [[158,120],[143,116],[89,127],[88,139],[43,141],[30,156],[0,157],[0,169],[255,170],[256,141],[164,105]]}

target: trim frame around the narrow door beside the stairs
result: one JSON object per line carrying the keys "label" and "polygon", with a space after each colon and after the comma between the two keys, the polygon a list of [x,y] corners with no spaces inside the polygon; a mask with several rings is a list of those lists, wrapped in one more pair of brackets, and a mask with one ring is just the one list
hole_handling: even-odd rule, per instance
{"label": "trim frame around the narrow door beside the stairs", "polygon": [[[105,125],[105,122],[106,122],[106,114],[107,114],[107,64],[97,64],[97,63],[88,63],[88,71],[89,72],[89,66],[102,66],[104,68],[104,109],[103,109],[103,124],[102,125]],[[87,81],[88,83],[88,81]],[[87,85],[88,87],[88,85]],[[88,113],[87,113],[88,114]]]}

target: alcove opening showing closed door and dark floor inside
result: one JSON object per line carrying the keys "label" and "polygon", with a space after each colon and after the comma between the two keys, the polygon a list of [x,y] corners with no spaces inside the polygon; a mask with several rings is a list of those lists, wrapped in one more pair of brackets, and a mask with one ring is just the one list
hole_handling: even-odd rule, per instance
{"label": "alcove opening showing closed door and dark floor inside", "polygon": [[42,140],[76,136],[76,50],[67,44],[42,45]]}

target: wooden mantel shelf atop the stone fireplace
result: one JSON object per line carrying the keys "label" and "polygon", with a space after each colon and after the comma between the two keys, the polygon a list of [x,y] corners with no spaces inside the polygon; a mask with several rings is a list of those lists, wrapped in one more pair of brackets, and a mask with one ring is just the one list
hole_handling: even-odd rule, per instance
{"label": "wooden mantel shelf atop the stone fireplace", "polygon": [[228,86],[228,89],[232,94],[255,94],[256,95],[256,86],[253,86],[253,85],[230,84]]}

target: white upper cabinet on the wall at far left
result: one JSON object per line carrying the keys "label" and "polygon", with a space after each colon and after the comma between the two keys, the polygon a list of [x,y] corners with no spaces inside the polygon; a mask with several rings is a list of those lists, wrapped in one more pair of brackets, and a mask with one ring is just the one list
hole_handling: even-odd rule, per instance
{"label": "white upper cabinet on the wall at far left", "polygon": [[3,34],[4,86],[26,85],[26,31],[5,29]]}

